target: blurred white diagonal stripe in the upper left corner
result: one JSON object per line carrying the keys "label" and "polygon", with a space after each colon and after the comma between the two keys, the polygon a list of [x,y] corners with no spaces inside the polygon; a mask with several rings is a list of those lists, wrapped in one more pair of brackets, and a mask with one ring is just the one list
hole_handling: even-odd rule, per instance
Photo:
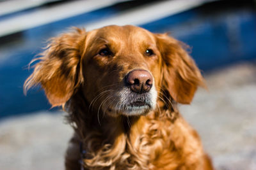
{"label": "blurred white diagonal stripe in the upper left corner", "polygon": [[116,0],[69,1],[68,3],[50,6],[42,10],[36,10],[32,13],[25,13],[14,18],[1,20],[0,37],[97,10],[116,2]]}

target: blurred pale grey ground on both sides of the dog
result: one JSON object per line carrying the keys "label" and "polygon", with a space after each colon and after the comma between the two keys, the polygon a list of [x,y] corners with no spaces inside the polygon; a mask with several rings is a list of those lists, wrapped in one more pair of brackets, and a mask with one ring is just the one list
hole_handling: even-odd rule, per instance
{"label": "blurred pale grey ground on both sides of the dog", "polygon": [[[205,75],[180,112],[199,132],[216,169],[256,169],[256,64],[244,62]],[[72,134],[65,113],[37,113],[0,122],[0,169],[64,169]]]}

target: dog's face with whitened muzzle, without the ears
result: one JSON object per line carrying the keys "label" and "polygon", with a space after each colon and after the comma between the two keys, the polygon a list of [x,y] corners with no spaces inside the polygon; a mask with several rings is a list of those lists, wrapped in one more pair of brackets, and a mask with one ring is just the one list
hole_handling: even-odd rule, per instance
{"label": "dog's face with whitened muzzle, without the ears", "polygon": [[88,33],[85,49],[83,90],[94,107],[110,115],[156,108],[161,55],[154,34],[133,26],[104,27]]}

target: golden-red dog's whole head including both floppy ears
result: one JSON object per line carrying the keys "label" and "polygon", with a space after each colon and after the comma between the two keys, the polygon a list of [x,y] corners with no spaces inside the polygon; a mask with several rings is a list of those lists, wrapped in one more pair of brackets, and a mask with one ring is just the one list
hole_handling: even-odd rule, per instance
{"label": "golden-red dog's whole head including both floppy ears", "polygon": [[26,89],[40,83],[52,106],[81,92],[109,115],[146,114],[168,98],[188,104],[204,84],[182,43],[131,25],[62,34],[39,59]]}

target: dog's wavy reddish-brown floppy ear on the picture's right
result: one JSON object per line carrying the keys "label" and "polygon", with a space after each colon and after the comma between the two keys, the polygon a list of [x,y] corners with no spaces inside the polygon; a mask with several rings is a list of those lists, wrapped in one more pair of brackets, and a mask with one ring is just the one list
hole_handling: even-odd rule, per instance
{"label": "dog's wavy reddish-brown floppy ear on the picture's right", "polygon": [[163,59],[162,89],[178,103],[191,103],[198,86],[205,87],[204,79],[186,45],[167,34],[156,34],[157,46]]}

